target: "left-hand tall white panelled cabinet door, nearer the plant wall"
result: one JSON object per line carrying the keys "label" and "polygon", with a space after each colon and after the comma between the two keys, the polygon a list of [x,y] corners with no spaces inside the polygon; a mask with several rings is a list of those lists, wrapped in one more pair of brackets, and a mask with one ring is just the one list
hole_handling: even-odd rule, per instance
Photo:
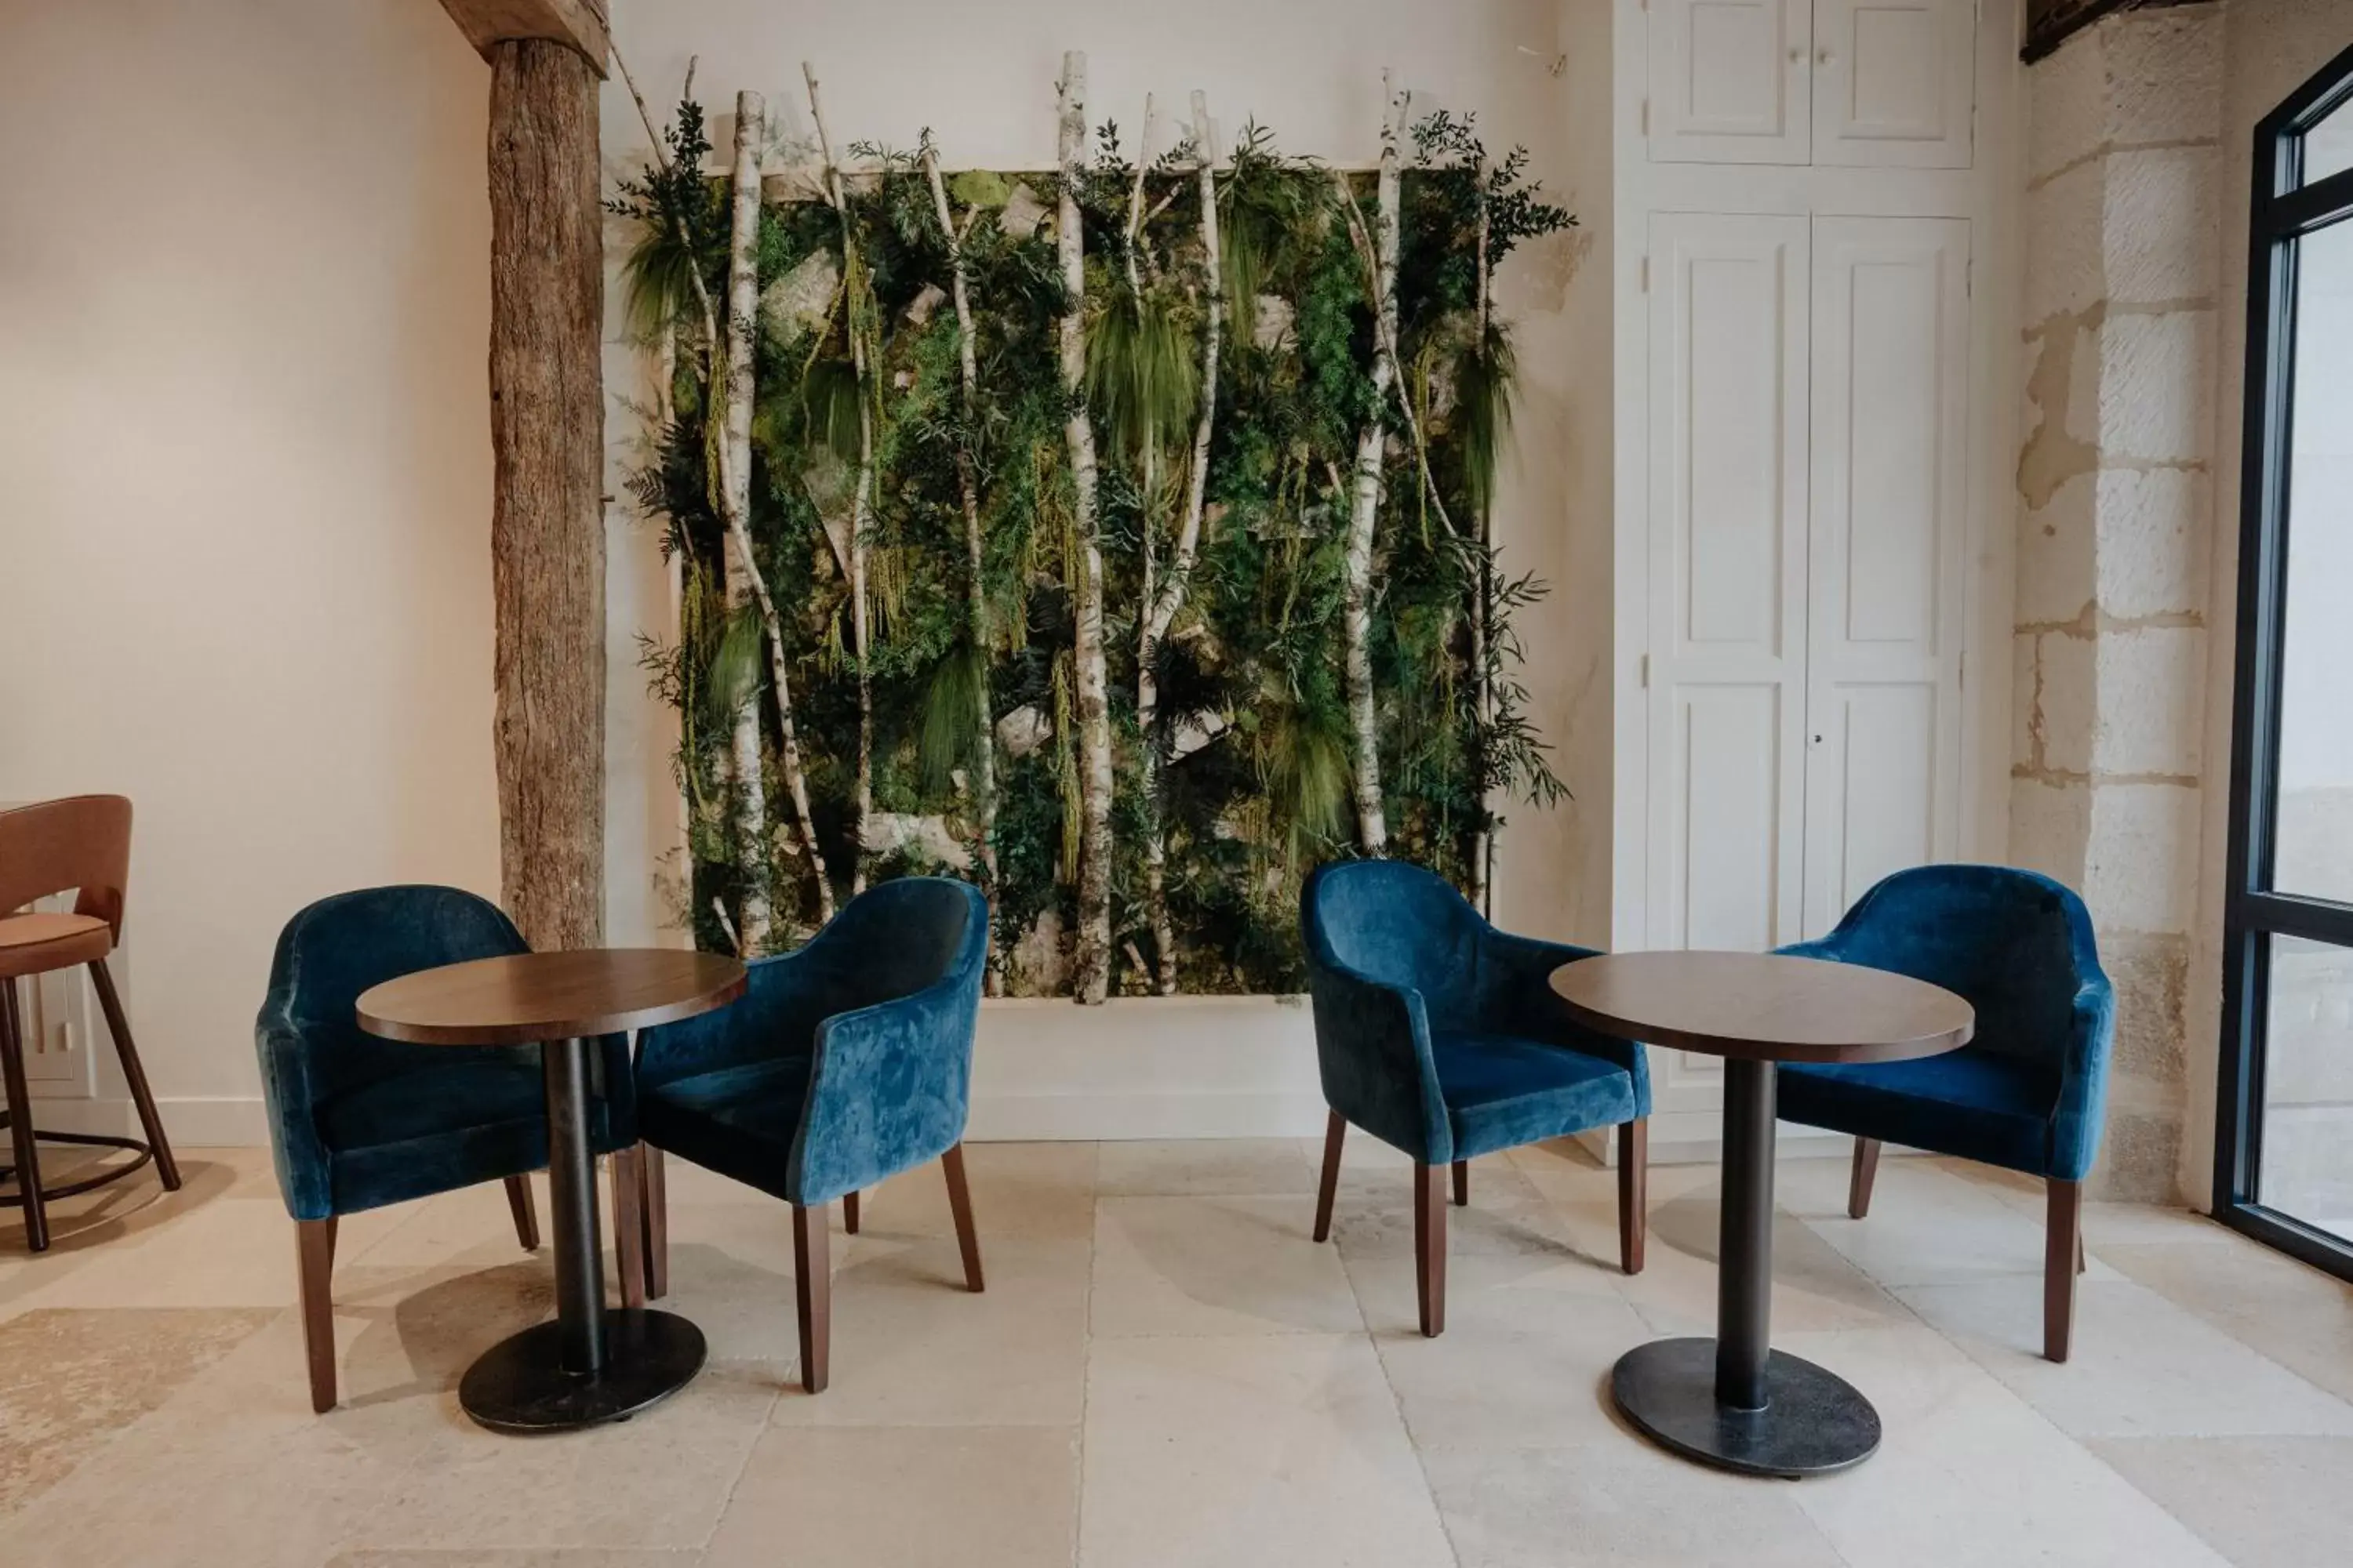
{"label": "left-hand tall white panelled cabinet door, nearer the plant wall", "polygon": [[1649,945],[1795,940],[1807,219],[1649,219]]}

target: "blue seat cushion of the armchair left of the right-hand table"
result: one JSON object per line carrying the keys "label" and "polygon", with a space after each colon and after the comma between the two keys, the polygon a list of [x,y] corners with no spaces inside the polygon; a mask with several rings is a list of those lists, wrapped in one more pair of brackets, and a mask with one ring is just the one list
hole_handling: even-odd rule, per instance
{"label": "blue seat cushion of the armchair left of the right-hand table", "polygon": [[1642,1114],[1633,1072],[1541,1039],[1431,1030],[1431,1060],[1454,1131],[1454,1159]]}

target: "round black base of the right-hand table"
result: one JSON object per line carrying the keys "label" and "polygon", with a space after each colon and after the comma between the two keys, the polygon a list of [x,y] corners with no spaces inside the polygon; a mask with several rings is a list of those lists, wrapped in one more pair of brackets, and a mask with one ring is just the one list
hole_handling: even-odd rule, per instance
{"label": "round black base of the right-hand table", "polygon": [[1619,1356],[1609,1394],[1645,1436],[1687,1460],[1751,1476],[1819,1476],[1880,1446],[1880,1413],[1812,1361],[1765,1359],[1765,1408],[1715,1401],[1715,1340],[1652,1340]]}

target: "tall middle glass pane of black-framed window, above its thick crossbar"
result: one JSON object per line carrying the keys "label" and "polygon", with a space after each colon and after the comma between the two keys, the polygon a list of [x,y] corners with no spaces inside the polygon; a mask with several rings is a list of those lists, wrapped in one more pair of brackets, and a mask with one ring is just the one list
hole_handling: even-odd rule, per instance
{"label": "tall middle glass pane of black-framed window, above its thick crossbar", "polygon": [[2353,223],[2297,244],[2294,367],[2271,886],[2353,903]]}

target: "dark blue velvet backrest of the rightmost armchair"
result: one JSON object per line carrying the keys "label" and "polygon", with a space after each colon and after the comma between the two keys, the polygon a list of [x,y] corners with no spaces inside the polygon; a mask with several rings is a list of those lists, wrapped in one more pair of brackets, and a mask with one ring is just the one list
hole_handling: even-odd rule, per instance
{"label": "dark blue velvet backrest of the rightmost armchair", "polygon": [[2009,865],[1920,865],[1864,893],[1828,945],[1977,1009],[1981,1051],[2059,1065],[2075,992],[2099,973],[2092,917],[2049,877]]}

